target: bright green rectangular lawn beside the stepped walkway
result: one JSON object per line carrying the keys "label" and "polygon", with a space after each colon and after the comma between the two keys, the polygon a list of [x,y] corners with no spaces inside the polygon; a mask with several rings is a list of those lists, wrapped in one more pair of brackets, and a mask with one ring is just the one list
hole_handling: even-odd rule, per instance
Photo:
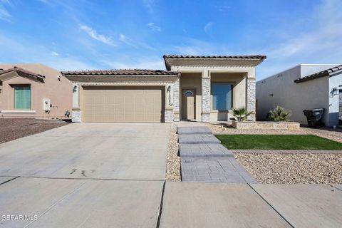
{"label": "bright green rectangular lawn beside the stepped walkway", "polygon": [[342,143],[316,135],[215,135],[228,149],[342,150]]}

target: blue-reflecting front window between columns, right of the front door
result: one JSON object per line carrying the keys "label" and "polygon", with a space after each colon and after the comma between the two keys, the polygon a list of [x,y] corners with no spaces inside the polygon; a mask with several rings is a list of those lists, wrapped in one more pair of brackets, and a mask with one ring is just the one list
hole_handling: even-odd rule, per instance
{"label": "blue-reflecting front window between columns, right of the front door", "polygon": [[232,84],[212,83],[212,109],[232,109]]}

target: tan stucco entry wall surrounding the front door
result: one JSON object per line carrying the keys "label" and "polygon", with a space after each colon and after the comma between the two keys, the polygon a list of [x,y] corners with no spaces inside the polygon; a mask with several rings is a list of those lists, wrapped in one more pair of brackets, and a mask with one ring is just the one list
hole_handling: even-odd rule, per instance
{"label": "tan stucco entry wall surrounding the front door", "polygon": [[180,118],[182,119],[182,92],[183,89],[194,88],[196,90],[196,116],[197,121],[202,121],[202,73],[182,73],[180,76]]}

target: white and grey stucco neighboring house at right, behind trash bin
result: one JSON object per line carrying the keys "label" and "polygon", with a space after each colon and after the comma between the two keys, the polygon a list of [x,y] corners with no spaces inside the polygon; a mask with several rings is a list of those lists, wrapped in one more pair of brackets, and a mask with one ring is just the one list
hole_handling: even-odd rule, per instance
{"label": "white and grey stucco neighboring house at right, behind trash bin", "polygon": [[307,124],[305,109],[325,108],[327,126],[341,123],[342,65],[301,64],[257,82],[257,118],[264,120],[277,105],[291,110],[291,119]]}

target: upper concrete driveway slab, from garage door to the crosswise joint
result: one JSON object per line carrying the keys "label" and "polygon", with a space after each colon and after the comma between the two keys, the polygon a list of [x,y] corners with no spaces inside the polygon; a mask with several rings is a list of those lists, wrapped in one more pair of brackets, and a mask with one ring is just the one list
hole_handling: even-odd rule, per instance
{"label": "upper concrete driveway slab, from garage door to the crosswise joint", "polygon": [[170,125],[74,123],[0,144],[0,175],[165,180]]}

